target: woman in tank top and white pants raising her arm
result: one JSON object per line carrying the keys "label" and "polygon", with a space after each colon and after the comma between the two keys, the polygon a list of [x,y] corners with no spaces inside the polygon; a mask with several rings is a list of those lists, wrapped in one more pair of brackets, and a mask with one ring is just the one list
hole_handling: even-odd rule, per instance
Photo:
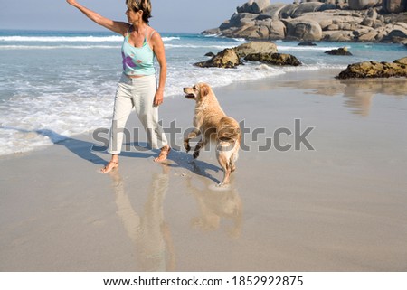
{"label": "woman in tank top and white pants raising her arm", "polygon": [[[126,0],[128,23],[112,21],[80,5],[76,0],[67,2],[95,23],[124,36],[121,50],[123,74],[118,83],[110,130],[108,152],[111,159],[101,172],[109,173],[118,167],[124,127],[132,108],[136,108],[137,116],[146,129],[149,144],[154,149],[161,148],[154,161],[165,161],[171,148],[158,124],[158,106],[164,100],[166,54],[160,34],[148,25],[151,17],[150,0]],[[158,88],[153,65],[155,56],[160,67]]]}

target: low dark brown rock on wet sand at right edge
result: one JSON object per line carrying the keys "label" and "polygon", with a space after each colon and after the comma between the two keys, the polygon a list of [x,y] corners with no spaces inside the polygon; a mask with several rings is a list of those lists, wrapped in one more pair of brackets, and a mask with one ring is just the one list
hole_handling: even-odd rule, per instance
{"label": "low dark brown rock on wet sand at right edge", "polygon": [[350,64],[338,79],[407,77],[407,57],[393,62],[364,61]]}

